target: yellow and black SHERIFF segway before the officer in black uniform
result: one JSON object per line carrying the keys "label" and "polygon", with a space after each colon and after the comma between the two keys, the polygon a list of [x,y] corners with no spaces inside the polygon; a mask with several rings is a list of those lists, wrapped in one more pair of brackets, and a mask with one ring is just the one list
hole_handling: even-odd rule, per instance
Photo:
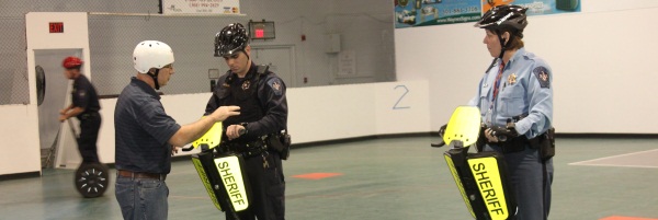
{"label": "yellow and black SHERIFF segway before the officer in black uniform", "polygon": [[251,188],[246,170],[242,169],[242,155],[223,152],[217,148],[223,132],[222,123],[215,123],[203,137],[182,150],[201,149],[200,153],[192,155],[192,163],[211,200],[220,211],[227,211],[234,219],[239,219],[237,212],[249,208]]}

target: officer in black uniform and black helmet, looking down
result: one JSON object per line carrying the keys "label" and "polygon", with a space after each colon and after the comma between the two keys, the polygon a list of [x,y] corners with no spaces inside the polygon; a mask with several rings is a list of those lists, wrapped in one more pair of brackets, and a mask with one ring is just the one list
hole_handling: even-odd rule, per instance
{"label": "officer in black uniform and black helmet, looking down", "polygon": [[[251,184],[251,200],[240,219],[284,219],[285,181],[280,151],[266,141],[286,128],[287,102],[281,78],[250,59],[249,36],[242,24],[234,23],[215,35],[215,57],[230,68],[218,80],[206,114],[219,106],[238,105],[240,115],[223,121],[226,135],[220,151],[241,153]],[[227,212],[227,219],[234,217]]]}

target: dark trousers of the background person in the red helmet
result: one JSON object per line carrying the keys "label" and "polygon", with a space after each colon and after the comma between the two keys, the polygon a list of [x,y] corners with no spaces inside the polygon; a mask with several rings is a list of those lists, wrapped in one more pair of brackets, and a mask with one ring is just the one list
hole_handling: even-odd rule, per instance
{"label": "dark trousers of the background person in the red helmet", "polygon": [[82,163],[100,163],[97,141],[101,129],[101,115],[98,113],[84,114],[79,119],[78,150],[82,157]]}

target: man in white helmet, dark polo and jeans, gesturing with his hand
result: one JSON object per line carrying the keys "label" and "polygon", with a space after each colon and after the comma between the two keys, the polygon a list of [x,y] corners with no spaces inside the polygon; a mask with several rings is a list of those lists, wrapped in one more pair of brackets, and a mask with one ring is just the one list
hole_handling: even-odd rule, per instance
{"label": "man in white helmet, dark polo and jeans, gesturing with his hand", "polygon": [[240,107],[223,106],[202,119],[181,126],[164,113],[156,90],[167,85],[173,69],[169,45],[145,40],[135,47],[137,76],[124,88],[114,109],[116,200],[124,219],[167,219],[171,154]]}

